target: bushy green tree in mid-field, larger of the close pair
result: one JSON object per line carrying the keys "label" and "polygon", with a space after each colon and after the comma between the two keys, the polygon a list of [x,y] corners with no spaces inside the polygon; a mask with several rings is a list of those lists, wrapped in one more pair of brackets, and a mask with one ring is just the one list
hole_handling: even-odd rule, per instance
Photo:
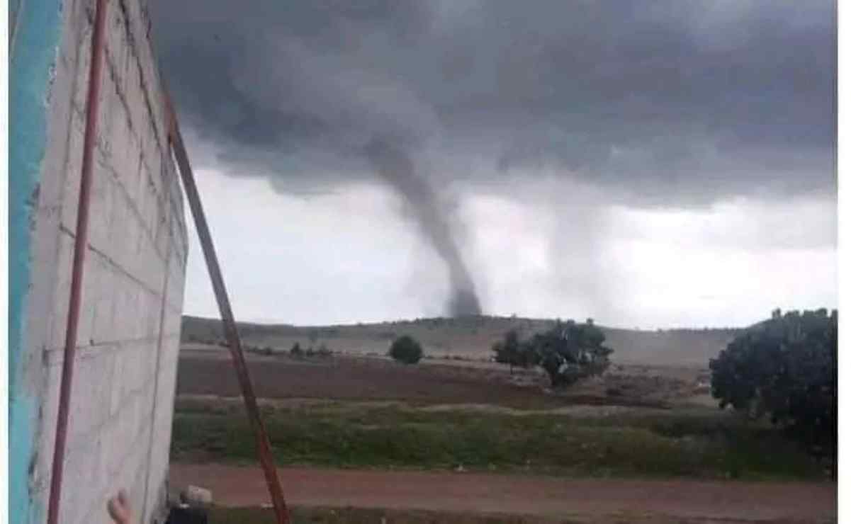
{"label": "bushy green tree in mid-field, larger of the close pair", "polygon": [[552,387],[564,387],[577,380],[603,373],[613,350],[603,345],[606,335],[590,318],[579,324],[556,321],[544,333],[535,333],[526,343],[534,362],[550,377]]}

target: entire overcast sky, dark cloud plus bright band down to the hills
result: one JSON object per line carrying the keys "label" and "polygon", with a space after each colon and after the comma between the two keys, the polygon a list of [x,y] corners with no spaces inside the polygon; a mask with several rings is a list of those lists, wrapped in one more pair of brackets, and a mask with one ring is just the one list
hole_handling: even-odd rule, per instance
{"label": "entire overcast sky, dark cloud plus bright band down to the hills", "polygon": [[[837,305],[833,2],[151,11],[241,319],[445,315],[446,249],[488,314],[704,327]],[[214,316],[199,255],[185,310]]]}

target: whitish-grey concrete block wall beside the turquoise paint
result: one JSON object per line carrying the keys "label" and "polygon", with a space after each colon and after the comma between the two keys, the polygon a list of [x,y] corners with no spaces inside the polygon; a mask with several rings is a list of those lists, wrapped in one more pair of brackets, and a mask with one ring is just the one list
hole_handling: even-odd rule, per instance
{"label": "whitish-grey concrete block wall beside the turquoise paint", "polygon": [[[165,503],[187,237],[163,92],[140,0],[108,0],[89,250],[60,521],[107,522],[127,489],[143,522]],[[93,0],[66,0],[33,226],[26,379],[40,391],[32,498],[46,507],[82,164]]]}

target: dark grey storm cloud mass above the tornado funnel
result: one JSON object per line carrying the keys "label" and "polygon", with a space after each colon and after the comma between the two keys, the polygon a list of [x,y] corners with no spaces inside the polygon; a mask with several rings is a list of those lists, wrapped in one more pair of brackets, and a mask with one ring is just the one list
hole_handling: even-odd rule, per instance
{"label": "dark grey storm cloud mass above the tornado funnel", "polygon": [[379,137],[634,203],[835,188],[832,2],[152,3],[185,126],[277,187],[374,176]]}

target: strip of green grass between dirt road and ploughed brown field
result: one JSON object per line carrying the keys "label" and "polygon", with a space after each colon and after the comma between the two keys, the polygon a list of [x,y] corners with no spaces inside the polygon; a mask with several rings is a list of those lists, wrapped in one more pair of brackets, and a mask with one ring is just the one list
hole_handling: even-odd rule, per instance
{"label": "strip of green grass between dirt road and ploughed brown field", "polygon": [[[263,407],[278,464],[556,476],[817,479],[818,464],[765,424],[711,408],[561,414],[428,411],[327,402]],[[234,402],[179,400],[172,458],[253,463]]]}

